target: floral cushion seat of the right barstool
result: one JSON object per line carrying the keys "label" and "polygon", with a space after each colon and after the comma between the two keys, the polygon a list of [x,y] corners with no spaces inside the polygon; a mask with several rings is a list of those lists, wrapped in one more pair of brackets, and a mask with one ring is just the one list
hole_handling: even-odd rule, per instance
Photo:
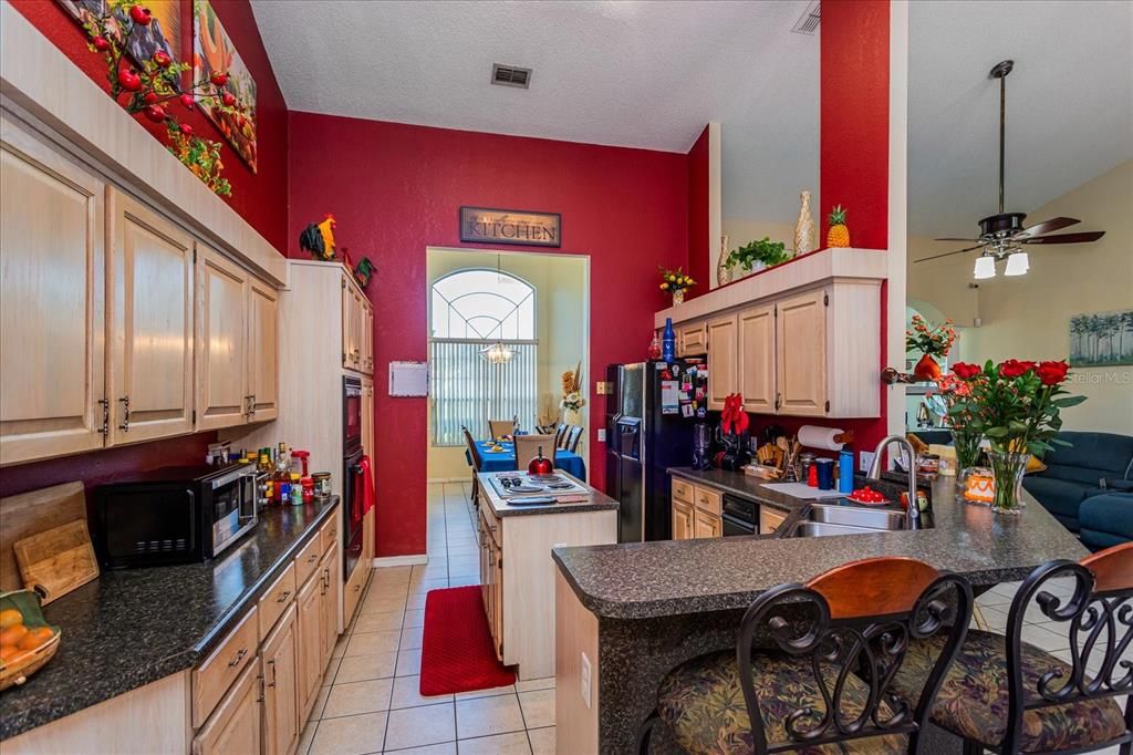
{"label": "floral cushion seat of the right barstool", "polygon": [[[944,645],[943,637],[910,643],[893,686],[915,699]],[[1039,698],[1038,682],[1047,671],[1071,667],[1045,651],[1023,643],[1023,688],[1028,702]],[[1057,689],[1060,681],[1055,681]],[[1007,648],[1002,635],[972,629],[940,686],[931,720],[965,739],[997,746],[1007,731]],[[1122,710],[1113,698],[1079,701],[1023,712],[1024,753],[1065,750],[1109,741],[1125,733]]]}

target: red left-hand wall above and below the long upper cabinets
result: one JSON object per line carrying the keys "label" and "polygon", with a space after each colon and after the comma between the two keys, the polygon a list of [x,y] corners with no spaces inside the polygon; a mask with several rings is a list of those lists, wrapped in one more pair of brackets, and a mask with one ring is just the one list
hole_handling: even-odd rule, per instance
{"label": "red left-hand wall above and below the long upper cabinets", "polygon": [[[87,76],[104,88],[107,71],[102,58],[86,48],[86,33],[54,0],[10,0],[40,32],[75,61]],[[229,203],[264,238],[278,249],[286,248],[288,136],[287,108],[271,63],[259,39],[247,0],[213,2],[224,29],[232,37],[240,57],[256,79],[258,172],[253,173],[245,162],[228,147],[224,136],[199,111],[186,113],[179,105],[178,116],[194,127],[196,133],[225,144],[222,151],[224,176],[232,184]],[[191,51],[191,0],[182,0],[182,57],[188,60]],[[152,134],[164,143],[164,126],[140,119]],[[199,433],[154,443],[95,451],[63,459],[39,461],[0,469],[0,497],[35,490],[70,480],[83,480],[87,487],[104,481],[161,466],[204,461],[205,447],[216,439],[216,433]]]}

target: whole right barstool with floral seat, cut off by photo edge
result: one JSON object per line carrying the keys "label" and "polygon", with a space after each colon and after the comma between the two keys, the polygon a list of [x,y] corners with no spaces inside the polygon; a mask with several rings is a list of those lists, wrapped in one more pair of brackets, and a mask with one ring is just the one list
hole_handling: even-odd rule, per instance
{"label": "whole right barstool with floral seat, cut off by photo edge", "polygon": [[[1068,583],[1068,584],[1067,584]],[[1038,612],[1032,609],[1037,608]],[[1031,614],[1028,616],[1029,611]],[[1059,658],[1023,641],[1028,621],[1065,637]],[[894,685],[913,693],[938,643],[918,638]],[[1068,656],[1068,660],[1066,660]],[[1011,602],[1005,635],[971,630],[945,677],[932,723],[964,753],[1085,753],[1133,743],[1133,543],[1034,569]],[[1114,699],[1130,695],[1125,710]]]}

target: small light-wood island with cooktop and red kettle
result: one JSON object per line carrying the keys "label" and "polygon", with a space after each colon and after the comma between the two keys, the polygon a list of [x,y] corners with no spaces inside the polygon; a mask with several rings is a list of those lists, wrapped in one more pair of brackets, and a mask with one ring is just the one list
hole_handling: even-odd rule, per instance
{"label": "small light-wood island with cooktop and red kettle", "polygon": [[571,490],[562,501],[536,504],[522,504],[520,499],[530,495],[513,494],[502,484],[511,485],[520,473],[477,475],[484,610],[496,655],[518,665],[520,679],[555,675],[552,549],[617,542],[617,501],[561,469],[555,475]]}

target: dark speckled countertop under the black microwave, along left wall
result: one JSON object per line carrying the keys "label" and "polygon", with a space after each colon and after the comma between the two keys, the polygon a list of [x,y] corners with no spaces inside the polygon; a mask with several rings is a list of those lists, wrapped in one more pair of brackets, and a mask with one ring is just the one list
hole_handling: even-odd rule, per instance
{"label": "dark speckled countertop under the black microwave, along left wall", "polygon": [[24,685],[0,693],[0,739],[195,665],[338,502],[265,509],[218,560],[103,571],[44,606],[62,631],[59,652]]}

